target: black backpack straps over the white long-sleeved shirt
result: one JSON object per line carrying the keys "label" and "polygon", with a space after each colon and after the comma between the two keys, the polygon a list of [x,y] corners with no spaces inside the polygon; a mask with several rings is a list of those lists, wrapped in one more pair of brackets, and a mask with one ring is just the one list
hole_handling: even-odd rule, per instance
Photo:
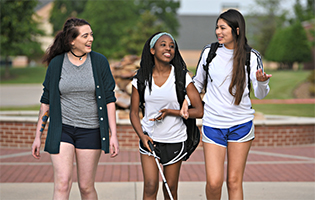
{"label": "black backpack straps over the white long-sleeved shirt", "polygon": [[[219,46],[220,46],[219,42],[211,43],[210,51],[208,53],[208,57],[207,57],[207,60],[206,60],[206,64],[203,65],[203,69],[206,71],[206,77],[209,76],[211,82],[213,80],[212,80],[212,78],[211,78],[211,76],[209,74],[209,64],[211,63],[213,58],[217,55],[216,51],[217,51]],[[205,46],[203,51],[206,48],[208,48],[208,47],[209,47],[209,45]],[[249,46],[246,46],[246,61],[245,61],[245,65],[246,65],[246,71],[247,71],[247,75],[248,75],[248,90],[249,90],[248,96],[250,95],[250,89],[251,89],[251,84],[250,84],[250,53],[251,53],[251,50],[252,50],[252,48],[250,48]],[[203,51],[202,51],[202,53],[203,53]],[[199,63],[200,63],[200,60],[201,60],[201,57],[202,57],[202,53],[200,55],[200,58],[199,58],[199,61],[198,61],[198,64],[197,64],[197,69],[198,69],[198,66],[199,66]],[[208,79],[206,78],[205,84],[204,84],[205,92],[207,91],[207,84],[208,84]]]}

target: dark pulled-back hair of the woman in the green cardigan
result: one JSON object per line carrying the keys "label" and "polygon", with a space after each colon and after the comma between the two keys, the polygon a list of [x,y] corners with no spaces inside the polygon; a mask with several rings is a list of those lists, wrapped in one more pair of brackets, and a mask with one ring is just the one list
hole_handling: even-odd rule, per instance
{"label": "dark pulled-back hair of the woman in the green cardigan", "polygon": [[63,25],[63,30],[57,33],[54,43],[46,50],[43,63],[49,65],[55,56],[70,51],[70,43],[79,35],[77,27],[83,25],[91,26],[84,19],[69,18]]}

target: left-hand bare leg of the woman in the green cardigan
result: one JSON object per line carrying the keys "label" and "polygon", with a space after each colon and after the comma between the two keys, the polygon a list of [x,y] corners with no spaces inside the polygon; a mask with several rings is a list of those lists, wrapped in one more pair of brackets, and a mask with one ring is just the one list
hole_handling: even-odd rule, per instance
{"label": "left-hand bare leg of the woman in the green cardigan", "polygon": [[72,144],[61,142],[59,154],[50,154],[54,168],[53,199],[69,199],[72,186],[74,151]]}

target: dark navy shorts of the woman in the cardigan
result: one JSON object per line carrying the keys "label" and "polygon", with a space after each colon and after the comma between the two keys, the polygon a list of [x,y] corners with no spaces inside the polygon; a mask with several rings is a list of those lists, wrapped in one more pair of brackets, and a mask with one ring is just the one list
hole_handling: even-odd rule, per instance
{"label": "dark navy shorts of the woman in the cardigan", "polygon": [[62,124],[61,142],[73,144],[77,149],[101,149],[100,129]]}

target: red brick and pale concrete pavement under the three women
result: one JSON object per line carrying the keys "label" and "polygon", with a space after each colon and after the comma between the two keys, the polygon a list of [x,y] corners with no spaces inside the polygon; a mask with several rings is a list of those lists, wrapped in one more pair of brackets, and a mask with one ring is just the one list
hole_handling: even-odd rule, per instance
{"label": "red brick and pale concrete pavement under the three women", "polygon": [[[0,199],[51,199],[53,170],[49,154],[40,160],[30,150],[0,149]],[[80,199],[77,178],[70,199]],[[96,175],[99,199],[142,198],[139,153],[123,150],[114,159],[102,154]],[[161,183],[162,184],[162,183]],[[184,162],[179,180],[179,199],[205,199],[205,169],[202,149]],[[161,188],[161,187],[160,187]],[[244,175],[245,199],[314,200],[315,145],[252,148]],[[163,199],[159,192],[158,199]],[[222,199],[227,199],[226,186]]]}

